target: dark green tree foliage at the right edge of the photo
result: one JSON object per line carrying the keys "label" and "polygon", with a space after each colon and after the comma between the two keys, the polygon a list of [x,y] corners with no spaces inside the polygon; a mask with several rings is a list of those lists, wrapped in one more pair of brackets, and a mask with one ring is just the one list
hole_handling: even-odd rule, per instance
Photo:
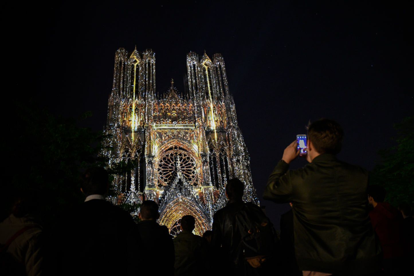
{"label": "dark green tree foliage at the right edge of the photo", "polygon": [[407,117],[394,125],[397,136],[389,149],[379,151],[371,183],[385,187],[386,201],[394,206],[402,202],[414,207],[414,118]]}

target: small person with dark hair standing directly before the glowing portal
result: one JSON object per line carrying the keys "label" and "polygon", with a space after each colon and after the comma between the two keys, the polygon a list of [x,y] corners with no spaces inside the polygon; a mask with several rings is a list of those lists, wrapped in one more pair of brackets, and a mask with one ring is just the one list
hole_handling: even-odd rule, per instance
{"label": "small person with dark hair standing directly before the glowing portal", "polygon": [[174,238],[176,276],[207,275],[207,241],[192,232],[195,227],[193,216],[181,218],[181,232]]}

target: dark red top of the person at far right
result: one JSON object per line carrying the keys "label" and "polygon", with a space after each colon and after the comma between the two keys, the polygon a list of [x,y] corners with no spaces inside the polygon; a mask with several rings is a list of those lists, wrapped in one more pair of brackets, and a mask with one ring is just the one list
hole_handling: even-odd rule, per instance
{"label": "dark red top of the person at far right", "polygon": [[378,202],[369,212],[372,226],[377,233],[384,253],[384,259],[405,254],[402,232],[402,214],[388,202]]}

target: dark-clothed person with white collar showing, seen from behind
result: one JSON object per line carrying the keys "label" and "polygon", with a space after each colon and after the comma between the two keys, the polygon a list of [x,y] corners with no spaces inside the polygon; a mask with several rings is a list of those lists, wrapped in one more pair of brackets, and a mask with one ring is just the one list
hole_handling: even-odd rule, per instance
{"label": "dark-clothed person with white collar showing, seen from behind", "polygon": [[[139,259],[136,224],[128,212],[106,201],[108,173],[90,168],[82,178],[84,203],[64,218],[56,241],[63,275],[135,275]],[[58,271],[57,271],[58,272]]]}

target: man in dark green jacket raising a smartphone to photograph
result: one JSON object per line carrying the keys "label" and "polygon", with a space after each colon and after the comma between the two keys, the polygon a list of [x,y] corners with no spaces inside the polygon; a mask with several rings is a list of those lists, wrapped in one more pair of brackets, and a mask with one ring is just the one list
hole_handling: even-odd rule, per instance
{"label": "man in dark green jacket raising a smartphone to photograph", "polygon": [[295,140],[269,177],[264,199],[293,203],[294,243],[303,275],[368,275],[380,252],[368,216],[368,172],[336,158],[344,132],[333,120],[308,126],[306,159],[298,170]]}

